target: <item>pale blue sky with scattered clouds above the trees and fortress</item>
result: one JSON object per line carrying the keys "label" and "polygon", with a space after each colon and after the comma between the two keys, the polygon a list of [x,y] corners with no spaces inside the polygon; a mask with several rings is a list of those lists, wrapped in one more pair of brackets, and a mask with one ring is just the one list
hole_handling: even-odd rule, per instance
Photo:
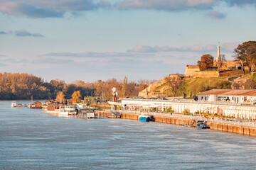
{"label": "pale blue sky with scattered clouds above the trees and fortress", "polygon": [[0,72],[67,83],[183,74],[256,40],[255,0],[0,0]]}

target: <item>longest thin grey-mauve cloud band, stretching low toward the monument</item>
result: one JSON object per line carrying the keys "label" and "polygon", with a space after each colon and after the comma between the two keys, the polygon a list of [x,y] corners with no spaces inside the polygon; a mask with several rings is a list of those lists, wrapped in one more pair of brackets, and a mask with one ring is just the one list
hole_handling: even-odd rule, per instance
{"label": "longest thin grey-mauve cloud band, stretching low toward the monument", "polygon": [[[233,50],[238,47],[238,42],[225,42],[221,45],[220,50],[222,52],[233,52]],[[154,46],[149,45],[137,45],[126,52],[49,52],[44,55],[39,55],[38,57],[43,58],[77,58],[77,59],[90,59],[90,60],[102,60],[108,61],[110,59],[115,60],[149,60],[150,57],[170,57],[170,53],[157,54],[158,52],[198,52],[200,55],[202,52],[216,52],[217,45],[191,45],[191,46],[181,46],[181,47],[171,47],[171,46]],[[167,54],[167,55],[166,55]],[[169,54],[169,55],[168,55]],[[177,53],[178,54],[178,53]],[[155,60],[155,59],[154,59]]]}

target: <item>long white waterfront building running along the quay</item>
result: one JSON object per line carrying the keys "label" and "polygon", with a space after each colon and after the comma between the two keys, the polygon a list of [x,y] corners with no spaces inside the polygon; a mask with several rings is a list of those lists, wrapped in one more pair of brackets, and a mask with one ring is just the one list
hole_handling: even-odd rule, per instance
{"label": "long white waterfront building running along the quay", "polygon": [[[204,97],[204,96],[203,96]],[[208,96],[207,96],[208,97]],[[242,98],[241,96],[239,96]],[[139,98],[124,98],[122,103],[109,102],[122,106],[128,111],[164,111],[171,107],[174,113],[210,113],[212,115],[233,116],[247,120],[256,120],[256,106],[242,106],[242,103],[228,103],[221,101],[193,101],[193,100],[149,100]]]}

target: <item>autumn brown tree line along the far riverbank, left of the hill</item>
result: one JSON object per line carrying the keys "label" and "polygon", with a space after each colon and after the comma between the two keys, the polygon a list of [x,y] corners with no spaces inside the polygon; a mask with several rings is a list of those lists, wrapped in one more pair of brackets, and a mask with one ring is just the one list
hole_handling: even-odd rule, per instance
{"label": "autumn brown tree line along the far riverbank, left of the hill", "polygon": [[113,87],[117,88],[118,97],[138,96],[139,91],[154,81],[156,80],[128,81],[127,77],[124,77],[122,80],[112,78],[88,83],[78,80],[66,84],[59,79],[47,82],[33,74],[0,72],[0,99],[31,99],[32,96],[34,99],[55,99],[59,91],[63,92],[65,98],[72,98],[75,91],[80,91],[82,98],[100,96],[104,100],[110,100]]}

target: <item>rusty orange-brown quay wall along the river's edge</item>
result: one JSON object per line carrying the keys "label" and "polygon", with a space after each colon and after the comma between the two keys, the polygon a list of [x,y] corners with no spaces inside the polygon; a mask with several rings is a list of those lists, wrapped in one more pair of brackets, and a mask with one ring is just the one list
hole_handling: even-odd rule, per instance
{"label": "rusty orange-brown quay wall along the river's edge", "polygon": [[[95,115],[100,114],[101,118],[115,118],[109,111],[95,111]],[[137,113],[122,113],[122,118],[129,120],[138,120],[139,114]],[[172,118],[161,115],[154,115],[156,123],[167,123],[172,125],[183,125],[196,128],[196,120],[191,118]],[[249,135],[256,137],[256,128],[247,127],[244,125],[232,125],[228,123],[215,123],[207,121],[206,124],[210,130],[218,130],[223,132],[231,132],[240,135]]]}

